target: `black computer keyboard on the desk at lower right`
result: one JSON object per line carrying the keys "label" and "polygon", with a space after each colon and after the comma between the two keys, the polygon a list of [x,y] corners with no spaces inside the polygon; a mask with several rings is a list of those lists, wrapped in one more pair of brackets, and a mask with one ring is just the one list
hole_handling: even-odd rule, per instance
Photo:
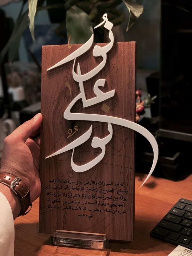
{"label": "black computer keyboard on the desk at lower right", "polygon": [[192,249],[192,201],[179,199],[150,235],[167,243]]}

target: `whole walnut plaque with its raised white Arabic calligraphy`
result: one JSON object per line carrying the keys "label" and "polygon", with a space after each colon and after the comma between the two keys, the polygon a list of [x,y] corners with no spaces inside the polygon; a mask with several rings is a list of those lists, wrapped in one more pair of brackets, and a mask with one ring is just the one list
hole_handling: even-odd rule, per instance
{"label": "whole walnut plaque with its raised white Arabic calligraphy", "polygon": [[107,14],[95,28],[101,25],[109,43],[93,44],[91,35],[83,45],[42,48],[39,231],[105,233],[107,239],[132,241],[134,131],[154,151],[146,180],[158,145],[134,122],[135,42],[114,44]]}

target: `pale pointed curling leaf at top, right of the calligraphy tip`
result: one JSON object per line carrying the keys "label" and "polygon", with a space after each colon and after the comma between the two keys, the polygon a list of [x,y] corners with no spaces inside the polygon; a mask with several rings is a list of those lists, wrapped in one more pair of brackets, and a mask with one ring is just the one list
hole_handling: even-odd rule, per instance
{"label": "pale pointed curling leaf at top, right of the calligraphy tip", "polygon": [[126,29],[126,31],[128,31],[129,28],[136,21],[136,19],[139,18],[139,16],[142,14],[143,5],[139,5],[138,3],[135,3],[132,0],[122,0],[122,1],[127,6],[127,9],[129,11],[129,14],[130,14],[127,29]]}

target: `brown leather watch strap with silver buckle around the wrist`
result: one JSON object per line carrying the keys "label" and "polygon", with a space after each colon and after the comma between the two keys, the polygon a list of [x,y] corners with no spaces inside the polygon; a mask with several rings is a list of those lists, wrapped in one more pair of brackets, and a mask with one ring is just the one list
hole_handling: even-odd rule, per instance
{"label": "brown leather watch strap with silver buckle around the wrist", "polygon": [[22,209],[17,217],[29,213],[32,207],[32,203],[30,202],[30,191],[22,179],[9,173],[0,173],[0,183],[9,187],[13,194],[17,195],[19,198]]}

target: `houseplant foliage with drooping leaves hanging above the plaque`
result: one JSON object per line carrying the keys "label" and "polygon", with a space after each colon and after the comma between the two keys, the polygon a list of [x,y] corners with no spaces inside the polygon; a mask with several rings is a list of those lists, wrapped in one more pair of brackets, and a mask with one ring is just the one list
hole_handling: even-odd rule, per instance
{"label": "houseplant foliage with drooping leaves hanging above the plaque", "polygon": [[[67,38],[70,43],[85,43],[93,34],[93,27],[97,25],[104,13],[107,13],[109,20],[114,26],[121,24],[125,19],[125,13],[118,9],[121,3],[124,3],[129,11],[129,19],[127,30],[133,25],[134,21],[143,12],[143,6],[135,3],[132,0],[29,0],[29,9],[23,12],[27,0],[23,0],[23,4],[18,15],[13,33],[3,48],[0,54],[0,61],[2,62],[6,53],[8,53],[8,61],[15,60],[18,54],[19,43],[23,32],[29,25],[33,40],[34,37],[34,18],[37,12],[41,10],[59,12],[59,19],[61,20],[57,33],[66,27]],[[63,11],[63,20],[61,17],[61,10]],[[98,31],[95,35],[95,42],[102,41],[104,30]],[[100,38],[99,38],[100,35]]]}

